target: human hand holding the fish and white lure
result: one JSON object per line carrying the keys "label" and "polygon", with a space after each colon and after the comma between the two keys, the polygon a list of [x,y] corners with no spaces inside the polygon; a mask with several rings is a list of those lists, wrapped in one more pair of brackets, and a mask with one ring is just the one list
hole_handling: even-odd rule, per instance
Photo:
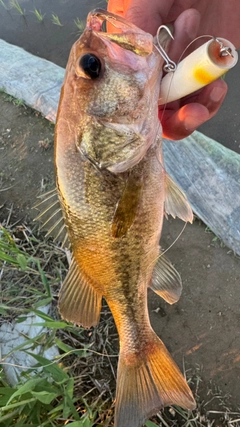
{"label": "human hand holding the fish and white lure", "polygon": [[[234,25],[240,19],[239,0],[232,0],[231,7],[226,3],[220,0],[109,0],[108,9],[153,35],[161,24],[175,21],[175,40],[168,53],[177,62],[189,42],[200,34],[229,38],[240,46],[240,31],[238,34],[238,26]],[[196,9],[189,9],[191,6]],[[226,93],[226,83],[217,80],[188,97],[161,106],[159,118],[164,136],[181,139],[190,135],[217,113]]]}

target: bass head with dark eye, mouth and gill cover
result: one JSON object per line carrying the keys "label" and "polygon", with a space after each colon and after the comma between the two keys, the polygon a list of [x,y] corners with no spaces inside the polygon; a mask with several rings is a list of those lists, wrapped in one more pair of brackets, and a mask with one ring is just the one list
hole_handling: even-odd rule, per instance
{"label": "bass head with dark eye, mouth and gill cover", "polygon": [[151,34],[110,12],[90,12],[70,52],[57,129],[67,121],[82,156],[98,167],[133,167],[159,129],[162,65]]}

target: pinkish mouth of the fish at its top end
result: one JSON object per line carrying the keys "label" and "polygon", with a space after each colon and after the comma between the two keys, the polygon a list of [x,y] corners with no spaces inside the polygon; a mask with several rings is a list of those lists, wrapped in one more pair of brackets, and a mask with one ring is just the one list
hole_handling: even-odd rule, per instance
{"label": "pinkish mouth of the fish at its top end", "polygon": [[86,28],[92,30],[103,41],[116,43],[139,56],[147,56],[153,51],[151,34],[128,22],[122,16],[104,9],[94,9],[88,14]]}

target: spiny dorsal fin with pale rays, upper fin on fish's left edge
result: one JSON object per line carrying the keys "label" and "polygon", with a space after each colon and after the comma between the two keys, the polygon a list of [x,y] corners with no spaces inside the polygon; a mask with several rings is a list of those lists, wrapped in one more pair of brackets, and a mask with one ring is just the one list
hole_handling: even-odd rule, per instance
{"label": "spiny dorsal fin with pale rays, upper fin on fish's left edge", "polygon": [[54,242],[61,242],[62,247],[69,247],[67,229],[64,223],[57,189],[48,191],[38,197],[41,199],[33,208],[40,213],[34,219],[41,223],[40,230],[47,230],[46,237],[51,236]]}

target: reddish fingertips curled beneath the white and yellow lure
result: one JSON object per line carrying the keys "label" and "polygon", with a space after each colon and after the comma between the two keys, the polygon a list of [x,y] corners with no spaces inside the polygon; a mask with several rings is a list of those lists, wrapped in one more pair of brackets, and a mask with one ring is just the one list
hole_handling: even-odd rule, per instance
{"label": "reddish fingertips curled beneath the white and yellow lure", "polygon": [[202,89],[197,95],[185,98],[185,102],[190,101],[190,103],[184,105],[178,111],[174,109],[174,105],[171,109],[171,104],[169,104],[168,109],[164,112],[159,112],[163,136],[173,140],[189,136],[218,112],[226,93],[226,83],[222,80],[217,80]]}

